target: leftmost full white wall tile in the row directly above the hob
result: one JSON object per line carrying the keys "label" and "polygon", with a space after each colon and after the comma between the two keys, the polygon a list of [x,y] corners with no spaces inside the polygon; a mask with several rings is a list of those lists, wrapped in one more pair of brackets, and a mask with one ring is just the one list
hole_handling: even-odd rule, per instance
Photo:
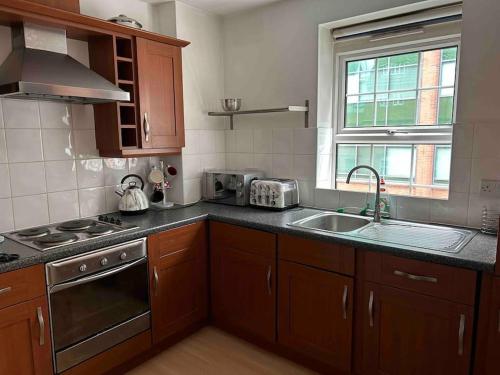
{"label": "leftmost full white wall tile in the row directly above the hob", "polygon": [[47,195],[28,195],[12,198],[16,229],[35,227],[49,223]]}

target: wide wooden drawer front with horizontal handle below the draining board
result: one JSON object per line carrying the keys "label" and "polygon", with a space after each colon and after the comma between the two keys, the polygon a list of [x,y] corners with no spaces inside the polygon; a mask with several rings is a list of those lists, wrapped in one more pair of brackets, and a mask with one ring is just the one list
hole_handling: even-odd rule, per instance
{"label": "wide wooden drawer front with horizontal handle below the draining board", "polygon": [[450,301],[473,305],[475,271],[388,254],[360,251],[359,276],[363,279]]}

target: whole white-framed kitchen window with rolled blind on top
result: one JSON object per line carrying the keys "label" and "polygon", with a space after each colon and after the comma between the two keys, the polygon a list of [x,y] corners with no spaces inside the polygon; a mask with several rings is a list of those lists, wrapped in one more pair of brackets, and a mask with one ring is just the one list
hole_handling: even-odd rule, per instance
{"label": "whole white-framed kitchen window with rolled blind on top", "polygon": [[373,192],[366,170],[345,183],[351,168],[365,164],[379,171],[390,194],[447,199],[461,7],[402,19],[332,32],[331,184]]}

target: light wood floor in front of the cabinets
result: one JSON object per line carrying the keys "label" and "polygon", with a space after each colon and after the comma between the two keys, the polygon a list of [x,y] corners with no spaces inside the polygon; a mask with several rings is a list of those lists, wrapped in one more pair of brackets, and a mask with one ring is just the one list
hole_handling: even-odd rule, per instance
{"label": "light wood floor in front of the cabinets", "polygon": [[206,327],[136,367],[128,375],[313,375],[214,327]]}

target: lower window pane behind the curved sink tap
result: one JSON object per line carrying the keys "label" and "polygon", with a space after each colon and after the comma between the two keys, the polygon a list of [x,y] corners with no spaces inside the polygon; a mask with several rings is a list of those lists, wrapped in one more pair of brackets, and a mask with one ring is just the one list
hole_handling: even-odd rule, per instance
{"label": "lower window pane behind the curved sink tap", "polygon": [[355,172],[350,184],[346,177],[351,168],[365,164],[375,168],[386,181],[389,194],[447,198],[451,146],[356,144],[337,145],[336,186],[340,190],[375,190],[368,170]]}

